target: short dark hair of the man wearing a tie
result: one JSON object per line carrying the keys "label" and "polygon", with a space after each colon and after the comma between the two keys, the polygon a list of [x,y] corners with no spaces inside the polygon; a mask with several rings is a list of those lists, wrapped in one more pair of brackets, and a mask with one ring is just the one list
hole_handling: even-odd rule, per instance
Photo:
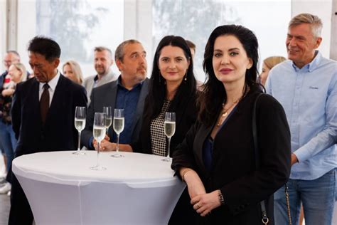
{"label": "short dark hair of the man wearing a tie", "polygon": [[58,43],[51,38],[36,36],[28,43],[28,51],[45,56],[47,61],[60,58],[61,49]]}

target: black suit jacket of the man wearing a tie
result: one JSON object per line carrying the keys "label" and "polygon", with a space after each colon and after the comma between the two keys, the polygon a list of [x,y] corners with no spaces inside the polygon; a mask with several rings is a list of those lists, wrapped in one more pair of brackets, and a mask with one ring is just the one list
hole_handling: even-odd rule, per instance
{"label": "black suit jacket of the man wearing a tie", "polygon": [[11,108],[13,130],[18,139],[16,157],[34,152],[76,150],[75,108],[87,105],[85,88],[60,75],[44,126],[38,88],[36,78],[16,86]]}

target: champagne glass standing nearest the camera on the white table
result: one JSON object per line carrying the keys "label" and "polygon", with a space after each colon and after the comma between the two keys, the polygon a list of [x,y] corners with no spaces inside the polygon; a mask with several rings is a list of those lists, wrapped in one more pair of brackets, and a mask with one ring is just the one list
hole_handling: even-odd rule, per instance
{"label": "champagne glass standing nearest the camera on the white table", "polygon": [[90,169],[94,170],[107,169],[100,166],[100,144],[105,138],[105,117],[105,113],[95,112],[93,134],[97,141],[97,165],[95,167],[90,167]]}

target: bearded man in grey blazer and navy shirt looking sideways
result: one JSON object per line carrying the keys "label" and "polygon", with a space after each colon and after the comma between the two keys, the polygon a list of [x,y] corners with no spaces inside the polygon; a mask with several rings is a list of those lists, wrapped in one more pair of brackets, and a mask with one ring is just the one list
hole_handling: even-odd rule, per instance
{"label": "bearded man in grey blazer and navy shirt looking sideways", "polygon": [[[146,52],[139,41],[124,41],[116,49],[114,58],[121,75],[117,80],[92,90],[91,103],[87,112],[85,130],[82,131],[82,145],[93,150],[95,140],[92,127],[95,112],[102,112],[104,106],[124,109],[125,125],[119,143],[129,144],[137,140],[141,129],[144,100],[148,93],[149,79],[146,78]],[[116,134],[112,126],[108,136],[102,140],[101,150],[116,149]]]}

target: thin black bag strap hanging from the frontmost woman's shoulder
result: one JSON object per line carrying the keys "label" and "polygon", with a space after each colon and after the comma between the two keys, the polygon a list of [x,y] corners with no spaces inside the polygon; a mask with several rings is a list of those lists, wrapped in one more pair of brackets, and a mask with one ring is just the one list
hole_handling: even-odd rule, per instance
{"label": "thin black bag strap hanging from the frontmost woman's shoulder", "polygon": [[[261,95],[263,95],[263,93],[260,93],[259,95],[257,95],[257,98],[255,98],[255,102],[254,102],[253,110],[252,110],[252,135],[253,135],[253,140],[254,140],[255,167],[256,167],[256,169],[260,168],[260,151],[259,151],[259,143],[257,142],[256,103],[257,103],[257,100],[260,98]],[[268,216],[267,216],[266,204],[265,204],[264,200],[260,202],[260,206],[261,206],[261,211],[262,211],[262,223],[268,224],[269,219],[268,219]]]}

